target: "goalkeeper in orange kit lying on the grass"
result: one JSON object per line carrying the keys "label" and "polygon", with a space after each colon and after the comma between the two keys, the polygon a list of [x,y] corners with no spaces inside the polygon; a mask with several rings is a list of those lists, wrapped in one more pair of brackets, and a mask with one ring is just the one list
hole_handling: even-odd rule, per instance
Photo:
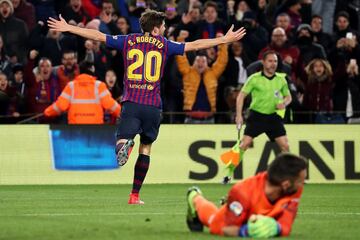
{"label": "goalkeeper in orange kit lying on the grass", "polygon": [[191,231],[202,231],[206,226],[210,233],[225,236],[288,236],[306,168],[304,158],[280,154],[266,172],[236,183],[219,209],[202,196],[200,189],[192,187],[187,195],[187,225]]}

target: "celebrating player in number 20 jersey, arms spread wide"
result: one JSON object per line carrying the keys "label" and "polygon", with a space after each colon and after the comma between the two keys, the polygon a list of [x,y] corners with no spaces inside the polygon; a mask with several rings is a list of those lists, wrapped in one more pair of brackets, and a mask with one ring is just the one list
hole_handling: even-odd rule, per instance
{"label": "celebrating player in number 20 jersey, arms spread wide", "polygon": [[70,25],[61,15],[59,20],[54,18],[48,20],[50,29],[105,42],[107,46],[123,53],[124,94],[121,119],[116,134],[116,154],[120,166],[127,162],[134,145],[133,139],[140,134],[139,156],[135,165],[129,204],[144,203],[139,198],[139,191],[149,168],[151,145],[159,132],[162,107],[160,79],[167,58],[171,55],[183,55],[186,51],[238,41],[245,35],[244,28],[233,31],[234,27],[231,26],[223,37],[177,43],[163,37],[164,20],[164,13],[146,11],[140,18],[143,33],[117,36]]}

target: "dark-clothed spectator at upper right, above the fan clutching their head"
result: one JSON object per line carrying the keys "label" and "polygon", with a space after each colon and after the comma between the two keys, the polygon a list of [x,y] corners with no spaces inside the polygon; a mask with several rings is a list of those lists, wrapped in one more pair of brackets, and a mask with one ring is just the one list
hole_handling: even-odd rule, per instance
{"label": "dark-clothed spectator at upper right, above the fan clutching their head", "polygon": [[320,15],[313,15],[311,19],[311,28],[314,33],[314,42],[324,47],[328,54],[333,47],[331,35],[322,29],[323,18]]}

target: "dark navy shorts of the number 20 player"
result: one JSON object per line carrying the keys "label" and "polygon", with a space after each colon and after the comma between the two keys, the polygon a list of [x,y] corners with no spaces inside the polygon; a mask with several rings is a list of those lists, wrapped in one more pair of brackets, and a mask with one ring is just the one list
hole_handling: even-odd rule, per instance
{"label": "dark navy shorts of the number 20 player", "polygon": [[140,134],[140,142],[153,143],[158,134],[161,121],[161,110],[154,106],[123,102],[120,120],[116,131],[118,139],[134,139]]}

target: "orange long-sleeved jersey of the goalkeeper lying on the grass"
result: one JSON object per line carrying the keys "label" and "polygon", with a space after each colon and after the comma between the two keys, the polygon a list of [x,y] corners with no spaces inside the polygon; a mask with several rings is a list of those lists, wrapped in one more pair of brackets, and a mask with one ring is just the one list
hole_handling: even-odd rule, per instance
{"label": "orange long-sleeved jersey of the goalkeeper lying on the grass", "polygon": [[213,233],[222,232],[222,227],[247,223],[252,214],[273,217],[280,225],[280,235],[288,236],[296,217],[303,188],[290,196],[270,203],[265,195],[267,173],[236,183],[229,191],[227,203],[219,210],[210,224]]}

